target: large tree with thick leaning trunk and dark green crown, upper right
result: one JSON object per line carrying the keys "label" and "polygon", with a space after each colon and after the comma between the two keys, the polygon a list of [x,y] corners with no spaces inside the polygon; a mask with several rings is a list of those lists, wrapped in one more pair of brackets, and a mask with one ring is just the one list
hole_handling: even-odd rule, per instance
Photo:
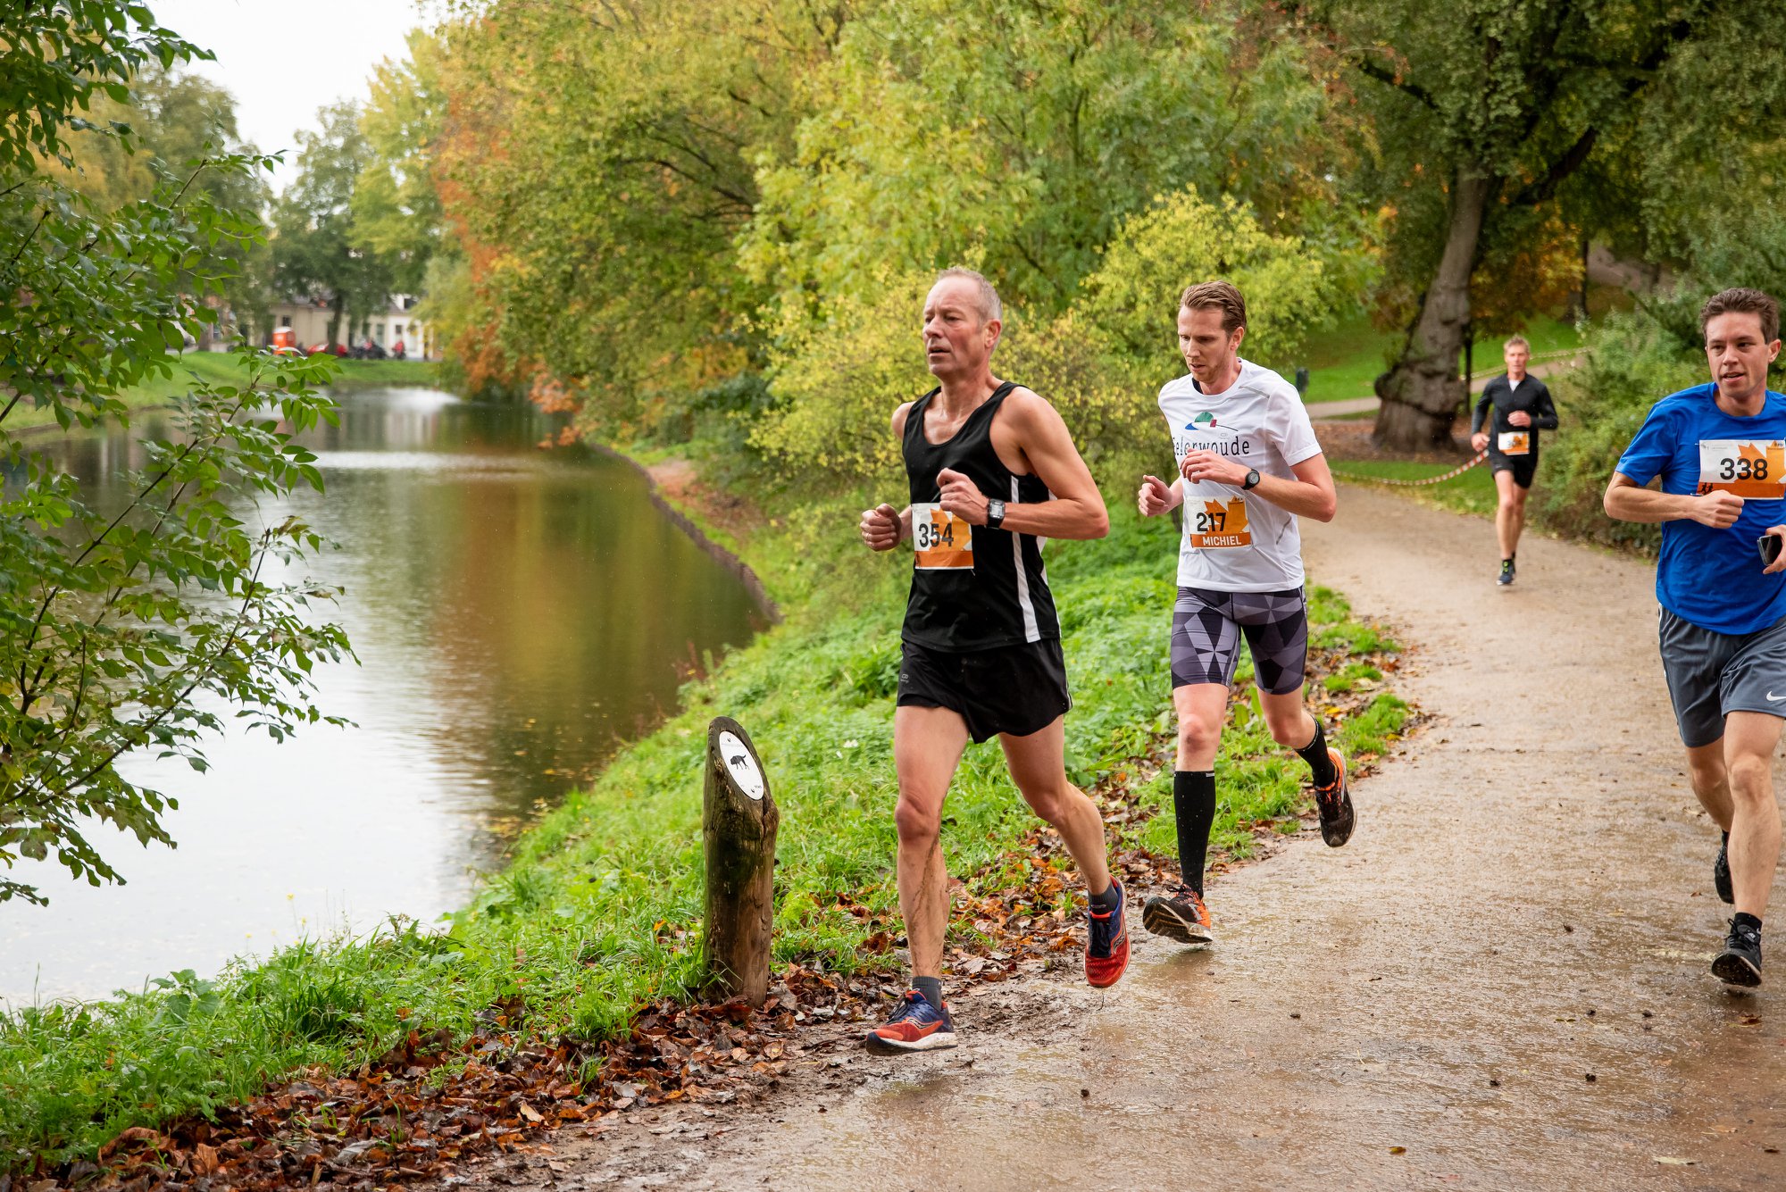
{"label": "large tree with thick leaning trunk and dark green crown, upper right", "polygon": [[[1416,0],[1300,4],[1293,14],[1343,62],[1370,111],[1366,189],[1395,209],[1388,282],[1406,291],[1407,332],[1379,378],[1375,437],[1415,450],[1450,443],[1465,401],[1457,355],[1472,278],[1511,261],[1547,221],[1579,227],[1597,202],[1641,207],[1641,171],[1600,170],[1602,189],[1570,182],[1629,153],[1645,111],[1679,96],[1679,62],[1722,46],[1732,79],[1777,73],[1743,30],[1779,25],[1781,5],[1734,0]],[[1682,136],[1729,136],[1720,86],[1675,111]],[[1627,159],[1629,161],[1629,159]],[[1715,186],[1702,175],[1700,186]],[[1611,187],[1611,189],[1606,189]]]}

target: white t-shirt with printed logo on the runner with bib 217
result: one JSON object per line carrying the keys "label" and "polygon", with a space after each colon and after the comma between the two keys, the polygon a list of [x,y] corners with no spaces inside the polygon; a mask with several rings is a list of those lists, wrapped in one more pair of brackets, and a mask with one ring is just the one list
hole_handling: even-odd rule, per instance
{"label": "white t-shirt with printed logo on the runner with bib 217", "polygon": [[[1191,377],[1168,380],[1159,412],[1172,430],[1172,455],[1220,451],[1261,476],[1295,480],[1291,466],[1322,453],[1297,387],[1268,368],[1239,362],[1225,393],[1207,394]],[[1302,585],[1297,516],[1239,485],[1189,480],[1179,587],[1218,592],[1279,592]]]}

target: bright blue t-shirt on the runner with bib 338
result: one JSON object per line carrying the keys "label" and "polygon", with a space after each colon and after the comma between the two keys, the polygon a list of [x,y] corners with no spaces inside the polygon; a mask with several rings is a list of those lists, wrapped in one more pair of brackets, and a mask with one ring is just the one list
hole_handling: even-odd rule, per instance
{"label": "bright blue t-shirt on the runner with bib 338", "polygon": [[[1759,414],[1734,418],[1718,409],[1716,393],[1716,384],[1707,382],[1652,405],[1638,437],[1618,457],[1618,471],[1636,484],[1648,484],[1659,475],[1663,493],[1693,494],[1700,484],[1702,441],[1754,443],[1761,448],[1759,459],[1768,455],[1765,444],[1786,441],[1786,396],[1770,389]],[[1775,451],[1773,460],[1779,459]],[[1777,475],[1781,468],[1773,460],[1768,466]],[[1656,600],[1677,617],[1715,633],[1754,633],[1786,616],[1786,573],[1761,575],[1761,555],[1756,551],[1756,539],[1768,526],[1786,521],[1786,500],[1741,496],[1743,512],[1725,530],[1690,519],[1663,523]]]}

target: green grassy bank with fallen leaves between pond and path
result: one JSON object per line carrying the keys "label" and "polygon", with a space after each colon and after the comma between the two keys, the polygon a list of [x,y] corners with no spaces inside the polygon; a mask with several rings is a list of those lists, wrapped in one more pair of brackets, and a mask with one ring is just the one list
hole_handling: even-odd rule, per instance
{"label": "green grassy bank with fallen leaves between pond and path", "polygon": [[[689,997],[700,976],[700,766],[705,724],[716,714],[750,728],[782,808],[777,965],[832,983],[895,969],[891,694],[909,560],[855,546],[855,509],[838,501],[786,509],[750,535],[745,557],[770,584],[786,625],[691,682],[684,710],[623,749],[589,791],[527,835],[513,865],[448,931],[393,923],[371,939],[300,944],[214,981],[175,974],[148,994],[0,1019],[0,1169],[54,1169],[66,1178],[77,1171],[66,1163],[96,1155],[125,1128],[216,1117],[218,1126],[180,1135],[188,1142],[179,1147],[139,1131],[125,1151],[173,1171],[198,1171],[218,1155],[223,1162],[259,1155],[254,1162],[271,1163],[275,1174],[280,1163],[288,1176],[311,1174],[293,1165],[302,1147],[288,1146],[289,1135],[304,1133],[314,1146],[302,1162],[314,1163],[316,1176],[323,1158],[348,1163],[341,1156],[350,1138],[371,1147],[354,1151],[355,1163],[382,1162],[389,1172],[413,1162],[427,1171],[459,1153],[459,1142],[439,1149],[429,1140],[441,1130],[439,1113],[427,1117],[441,1105],[429,1097],[479,1080],[489,1087],[491,1065],[507,1064],[502,1071],[511,1072],[534,1040],[547,1040],[543,1055],[555,1056],[552,1072],[563,1081],[550,1085],[550,1096],[573,1103],[566,1113],[682,1096],[689,1081],[705,1080],[688,1047],[680,1067],[659,1065],[638,1078],[643,1083],[627,1083],[597,1071],[598,1044],[609,1047],[609,1064],[618,1064],[613,1047],[627,1039],[668,1047],[664,1031],[652,1035],[636,1015]],[[1123,848],[1170,853],[1170,774],[1159,767],[1172,739],[1163,628],[1175,532],[1168,519],[1143,523],[1127,501],[1113,501],[1113,510],[1109,539],[1050,548],[1077,698],[1066,721],[1070,771],[1097,792]],[[1406,717],[1398,699],[1375,691],[1393,644],[1350,619],[1332,592],[1316,591],[1311,610],[1322,658],[1316,698],[1343,717],[1336,739],[1354,755],[1381,753]],[[1298,826],[1307,808],[1298,789],[1304,767],[1270,742],[1243,699],[1232,707],[1220,766],[1218,848],[1243,857],[1257,833]],[[1064,860],[1041,842],[997,744],[968,749],[945,844],[950,871],[970,874],[950,939],[963,980],[1007,971],[998,967],[1007,955],[998,942],[1016,926],[1007,930],[988,912],[988,899],[1004,899],[1011,924],[1072,928],[1075,883],[1057,873]],[[559,1040],[570,1044],[554,1051]],[[741,1051],[727,1044],[711,1065],[723,1069]],[[418,1060],[420,1053],[432,1058]],[[329,1096],[343,1097],[332,1110],[305,1101],[309,1094],[257,1103],[284,1106],[266,1110],[271,1117],[227,1108],[298,1072],[318,1083],[330,1072],[357,1080],[330,1085]],[[380,1117],[354,1101],[393,1090],[409,1090],[421,1108],[380,1110],[389,1113]],[[493,1119],[516,1121],[516,1130],[539,1121],[536,1110],[516,1117],[507,1087],[502,1096],[507,1108],[484,1110]],[[507,1137],[491,1128],[480,1137]],[[266,1137],[288,1142],[257,1147]],[[425,1151],[427,1160],[393,1158],[404,1147],[436,1149]]]}

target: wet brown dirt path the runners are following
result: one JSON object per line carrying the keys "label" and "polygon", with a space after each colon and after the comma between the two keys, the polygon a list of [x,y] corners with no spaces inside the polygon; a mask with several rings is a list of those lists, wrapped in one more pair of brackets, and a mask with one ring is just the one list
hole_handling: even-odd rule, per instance
{"label": "wet brown dirt path the runners are following", "polygon": [[1773,944],[1754,996],[1707,976],[1716,835],[1650,567],[1531,539],[1502,592],[1488,523],[1359,487],[1340,509],[1306,528],[1309,571],[1418,646],[1397,687],[1436,717],[1359,783],[1347,848],[1304,833],[1220,880],[1207,951],[1136,915],[1109,994],[989,987],[959,999],[952,1053],[839,1049],[730,1121],[561,1137],[545,1180],[1786,1187],[1786,960]]}

